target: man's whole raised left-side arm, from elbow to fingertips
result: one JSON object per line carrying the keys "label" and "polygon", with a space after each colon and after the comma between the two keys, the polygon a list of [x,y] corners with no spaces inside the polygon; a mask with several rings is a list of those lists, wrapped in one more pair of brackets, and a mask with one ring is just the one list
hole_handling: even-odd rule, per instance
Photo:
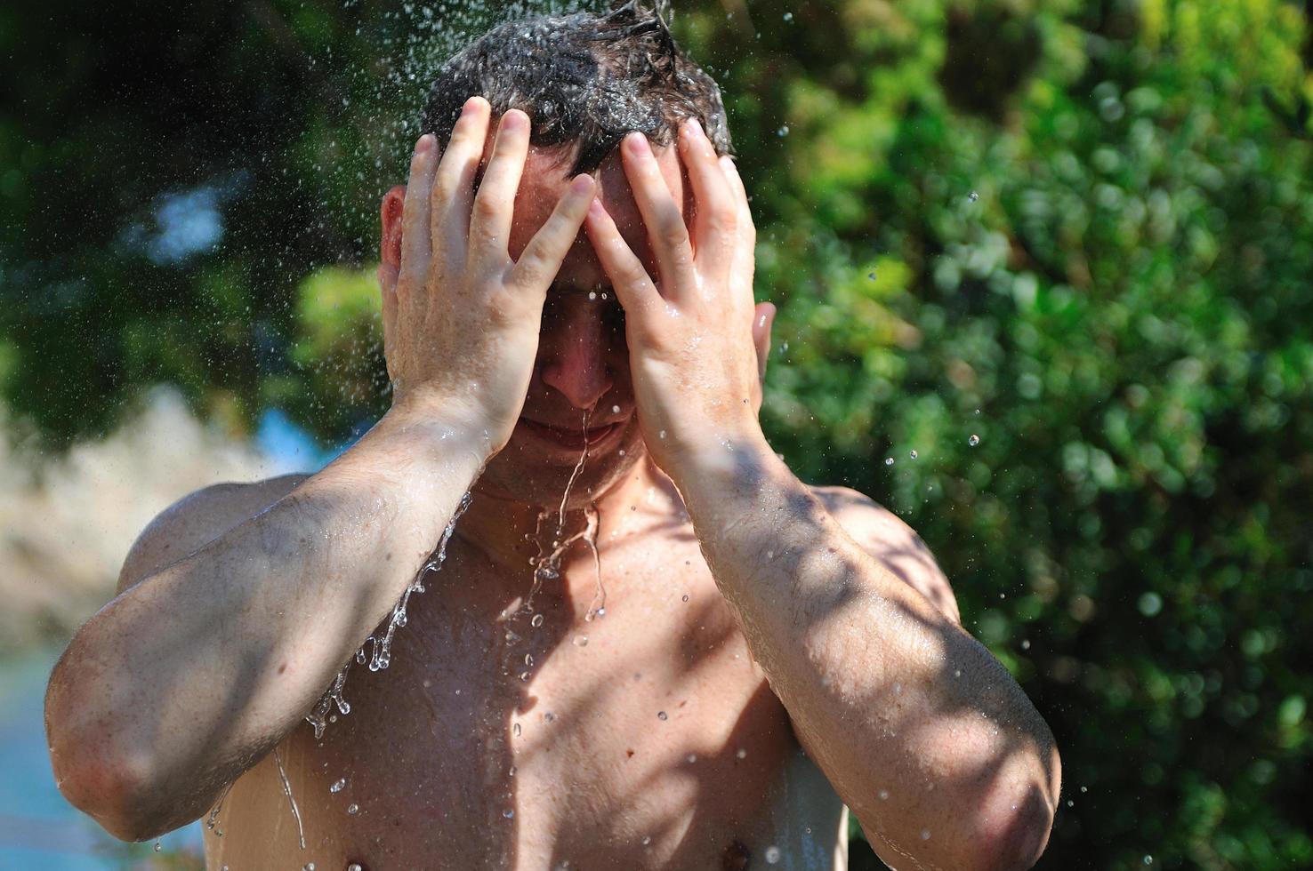
{"label": "man's whole raised left-side arm, from elbow to fingertips", "polygon": [[[55,778],[110,833],[144,840],[197,819],[276,746],[395,605],[509,439],[546,290],[595,184],[576,177],[512,261],[529,119],[502,117],[475,192],[488,127],[487,101],[469,100],[446,152],[420,136],[410,184],[383,199],[387,415],[194,552],[183,539],[226,526],[202,516],[215,495],[161,518],[129,559],[126,589],[56,664],[46,694]],[[179,542],[161,540],[169,535]]]}

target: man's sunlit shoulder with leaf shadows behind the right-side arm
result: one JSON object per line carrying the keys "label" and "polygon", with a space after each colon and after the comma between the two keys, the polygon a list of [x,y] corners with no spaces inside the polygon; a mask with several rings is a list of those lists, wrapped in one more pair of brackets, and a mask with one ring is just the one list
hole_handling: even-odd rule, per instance
{"label": "man's sunlit shoulder with leaf shadows behind the right-side arm", "polygon": [[811,487],[830,516],[857,544],[943,614],[961,622],[957,598],[916,530],[869,496],[848,487]]}

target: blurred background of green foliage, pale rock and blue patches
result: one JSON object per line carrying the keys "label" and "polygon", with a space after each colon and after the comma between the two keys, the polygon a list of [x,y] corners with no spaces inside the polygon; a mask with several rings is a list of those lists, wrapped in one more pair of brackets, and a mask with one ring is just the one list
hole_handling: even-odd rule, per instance
{"label": "blurred background of green foliage, pale rock and blue patches", "polygon": [[[186,867],[33,803],[41,678],[155,512],[387,407],[427,76],[559,8],[0,7],[0,864]],[[1313,3],[672,13],[780,307],[771,441],[919,530],[1052,725],[1040,867],[1313,866]]]}

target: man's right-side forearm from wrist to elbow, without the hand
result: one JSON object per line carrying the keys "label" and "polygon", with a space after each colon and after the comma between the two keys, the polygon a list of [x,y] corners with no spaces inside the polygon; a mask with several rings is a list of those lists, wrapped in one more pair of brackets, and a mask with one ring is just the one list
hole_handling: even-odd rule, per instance
{"label": "man's right-side forearm from wrist to elbow, without the hand", "polygon": [[754,658],[877,850],[926,867],[1033,862],[1057,753],[1002,664],[863,551],[759,434],[674,479]]}

